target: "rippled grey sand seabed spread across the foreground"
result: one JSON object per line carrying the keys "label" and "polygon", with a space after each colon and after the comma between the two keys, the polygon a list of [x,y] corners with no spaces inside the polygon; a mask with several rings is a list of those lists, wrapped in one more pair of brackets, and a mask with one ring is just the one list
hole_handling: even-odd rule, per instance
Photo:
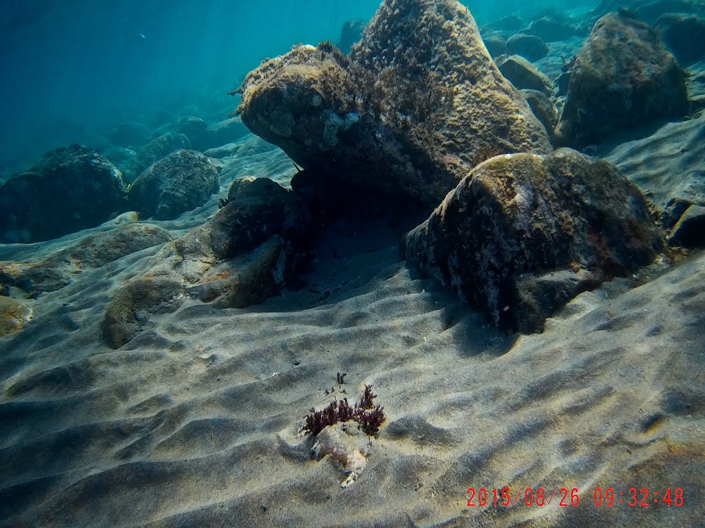
{"label": "rippled grey sand seabed spread across the foreground", "polygon": [[[233,177],[276,172],[238,163]],[[159,225],[178,235],[215,204]],[[705,254],[582,294],[518,337],[407,268],[397,242],[333,225],[301,291],[247,309],[186,303],[116,351],[100,337],[109,292],[158,247],[27,301],[33,320],[0,339],[0,526],[701,526]],[[341,463],[312,458],[299,431],[310,408],[365,384],[387,421],[372,439],[348,428],[367,457],[342,488]],[[516,504],[491,504],[503,487]],[[525,505],[539,487],[546,504]],[[625,501],[646,488],[650,505],[597,507],[608,487]],[[488,505],[467,506],[469,488]],[[669,488],[681,507],[653,503]]]}

